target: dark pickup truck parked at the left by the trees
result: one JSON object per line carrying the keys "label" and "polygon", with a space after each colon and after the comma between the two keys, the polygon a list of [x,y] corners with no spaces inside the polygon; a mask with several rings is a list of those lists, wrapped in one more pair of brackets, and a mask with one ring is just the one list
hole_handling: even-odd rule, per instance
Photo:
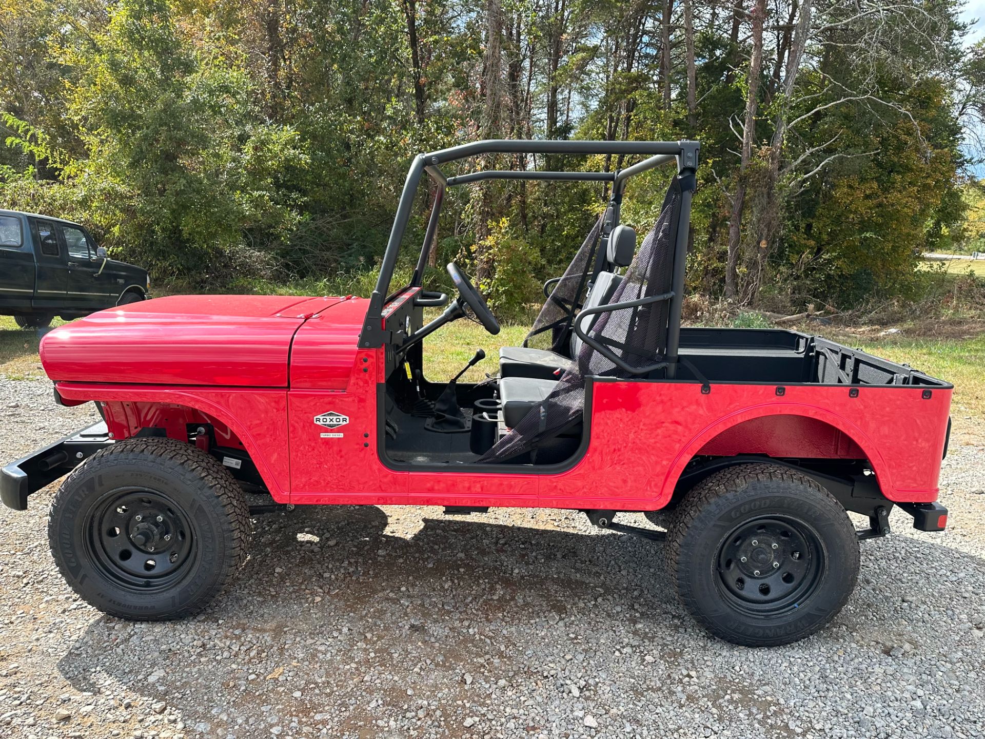
{"label": "dark pickup truck parked at the left by the trees", "polygon": [[147,270],[107,258],[79,224],[0,210],[0,315],[21,328],[143,301],[150,287]]}

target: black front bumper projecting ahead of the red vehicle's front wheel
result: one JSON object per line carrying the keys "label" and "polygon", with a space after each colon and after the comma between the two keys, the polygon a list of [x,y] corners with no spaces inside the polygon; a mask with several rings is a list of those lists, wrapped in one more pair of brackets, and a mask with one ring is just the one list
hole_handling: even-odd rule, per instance
{"label": "black front bumper projecting ahead of the red vehicle's front wheel", "polygon": [[0,473],[0,501],[8,508],[27,510],[28,496],[111,443],[106,425],[100,421],[11,462]]}

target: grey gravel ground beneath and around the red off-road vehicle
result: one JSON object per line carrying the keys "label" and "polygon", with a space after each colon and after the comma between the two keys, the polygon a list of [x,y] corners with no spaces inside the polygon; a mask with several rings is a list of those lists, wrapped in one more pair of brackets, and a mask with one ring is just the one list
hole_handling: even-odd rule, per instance
{"label": "grey gravel ground beneath and around the red off-road vehicle", "polygon": [[[0,379],[2,458],[91,416]],[[834,623],[768,650],[697,628],[661,545],[566,511],[260,516],[212,608],[128,623],[58,575],[43,491],[0,510],[0,737],[985,736],[985,442],[956,421],[948,532],[894,512]]]}

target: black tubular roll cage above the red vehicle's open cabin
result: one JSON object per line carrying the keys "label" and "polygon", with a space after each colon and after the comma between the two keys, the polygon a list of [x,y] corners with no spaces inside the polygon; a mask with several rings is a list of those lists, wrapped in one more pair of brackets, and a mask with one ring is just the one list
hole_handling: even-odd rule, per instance
{"label": "black tubular roll cage above the red vehicle's open cabin", "polygon": [[[375,349],[387,343],[386,332],[383,330],[383,306],[411,288],[422,287],[427,255],[431,241],[437,231],[437,222],[444,202],[444,193],[448,187],[478,182],[485,179],[531,179],[574,182],[612,182],[612,196],[606,210],[603,223],[603,253],[609,234],[620,223],[620,209],[626,181],[641,172],[655,167],[675,162],[678,174],[689,179],[689,186],[683,188],[680,223],[677,230],[677,241],[674,248],[674,275],[671,281],[671,292],[659,297],[660,300],[670,300],[670,332],[667,342],[667,355],[661,366],[666,367],[668,377],[674,377],[677,370],[678,350],[681,343],[681,306],[684,301],[685,265],[688,255],[688,234],[690,224],[690,200],[693,191],[693,177],[697,169],[697,155],[701,145],[696,141],[530,141],[489,139],[462,144],[449,149],[441,149],[428,154],[419,154],[414,158],[404,181],[404,189],[397,203],[397,213],[393,219],[393,228],[383,253],[376,287],[369,298],[369,308],[366,311],[365,324],[360,333],[359,345],[365,349]],[[614,171],[542,171],[542,170],[480,170],[457,176],[447,176],[440,166],[449,162],[478,157],[485,154],[596,154],[645,156],[646,159],[624,169]],[[411,208],[417,195],[418,185],[427,173],[436,185],[434,203],[430,217],[427,220],[427,231],[421,256],[411,282],[393,295],[388,296],[393,272],[397,265],[397,255],[400,244],[407,232],[407,224],[411,218]],[[547,286],[545,286],[546,289]],[[608,309],[602,306],[596,312]],[[578,332],[579,335],[582,332]],[[595,344],[589,337],[583,340]],[[596,347],[599,349],[599,347]],[[604,354],[611,354],[604,348]],[[652,368],[650,368],[652,369]],[[636,373],[636,372],[634,372]]]}

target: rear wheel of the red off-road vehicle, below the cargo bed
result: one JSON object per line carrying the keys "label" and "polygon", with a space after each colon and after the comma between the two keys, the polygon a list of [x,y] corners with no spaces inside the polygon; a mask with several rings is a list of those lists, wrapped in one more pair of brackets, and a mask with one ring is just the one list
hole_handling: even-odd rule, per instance
{"label": "rear wheel of the red off-road vehicle, below the cargo bed", "polygon": [[811,478],[765,463],[730,467],[689,491],[667,557],[690,614],[746,646],[814,634],[845,605],[859,571],[844,508]]}

